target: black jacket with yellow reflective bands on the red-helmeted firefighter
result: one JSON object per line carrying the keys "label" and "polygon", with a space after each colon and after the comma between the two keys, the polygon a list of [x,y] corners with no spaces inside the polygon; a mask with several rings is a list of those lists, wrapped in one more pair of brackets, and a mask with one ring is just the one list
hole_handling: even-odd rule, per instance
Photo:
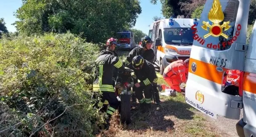
{"label": "black jacket with yellow reflective bands on the red-helmeted firefighter", "polygon": [[113,87],[113,74],[114,68],[124,69],[124,65],[121,60],[113,54],[108,52],[101,52],[100,56],[96,60],[98,70],[96,72],[97,79],[93,83],[93,91],[107,91],[115,92]]}

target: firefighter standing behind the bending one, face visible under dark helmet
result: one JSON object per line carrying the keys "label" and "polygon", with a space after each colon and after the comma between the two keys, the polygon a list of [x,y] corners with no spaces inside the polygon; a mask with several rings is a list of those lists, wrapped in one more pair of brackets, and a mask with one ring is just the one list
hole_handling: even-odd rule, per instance
{"label": "firefighter standing behind the bending one, face visible under dark helmet", "polygon": [[[131,63],[132,62],[132,58],[134,58],[136,55],[141,55],[145,60],[149,61],[150,63],[153,63],[154,61],[154,57],[155,57],[155,53],[154,51],[151,49],[151,45],[152,45],[153,41],[151,40],[150,37],[145,36],[143,38],[141,38],[141,42],[140,42],[140,46],[135,47],[134,49],[132,49],[132,51],[129,53],[129,55],[126,58],[126,63]],[[157,90],[157,78],[154,79],[154,82],[152,83],[153,87],[152,90]],[[156,94],[158,94],[158,91],[156,91]],[[133,92],[132,94],[132,102],[136,102],[135,99],[135,92]],[[156,104],[160,103],[160,99],[159,99],[159,95],[156,96]]]}

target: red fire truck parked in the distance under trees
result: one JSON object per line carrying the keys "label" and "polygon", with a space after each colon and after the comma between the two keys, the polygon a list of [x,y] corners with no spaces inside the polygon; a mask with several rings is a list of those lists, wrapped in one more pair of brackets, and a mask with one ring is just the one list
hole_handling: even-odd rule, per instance
{"label": "red fire truck parked in the distance under trees", "polygon": [[123,31],[118,32],[117,37],[117,46],[119,49],[130,49],[132,50],[135,47],[135,39],[133,32]]}

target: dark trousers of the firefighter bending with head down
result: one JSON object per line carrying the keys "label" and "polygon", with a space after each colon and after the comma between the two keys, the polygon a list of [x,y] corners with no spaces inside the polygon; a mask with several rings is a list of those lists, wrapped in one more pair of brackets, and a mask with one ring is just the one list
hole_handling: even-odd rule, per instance
{"label": "dark trousers of the firefighter bending with head down", "polygon": [[[133,90],[135,91],[135,95],[136,95],[136,98],[139,100],[139,103],[151,103],[151,96],[152,96],[152,85],[149,84],[147,86],[144,86],[144,87],[133,87]],[[145,97],[143,96],[143,91],[144,91],[144,95]]]}

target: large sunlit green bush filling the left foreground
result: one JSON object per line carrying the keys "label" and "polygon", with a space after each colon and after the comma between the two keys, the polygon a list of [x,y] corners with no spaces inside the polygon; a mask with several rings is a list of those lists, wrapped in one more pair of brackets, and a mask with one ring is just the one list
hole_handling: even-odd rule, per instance
{"label": "large sunlit green bush filling the left foreground", "polygon": [[0,136],[94,136],[103,115],[88,91],[99,47],[70,33],[1,39]]}

